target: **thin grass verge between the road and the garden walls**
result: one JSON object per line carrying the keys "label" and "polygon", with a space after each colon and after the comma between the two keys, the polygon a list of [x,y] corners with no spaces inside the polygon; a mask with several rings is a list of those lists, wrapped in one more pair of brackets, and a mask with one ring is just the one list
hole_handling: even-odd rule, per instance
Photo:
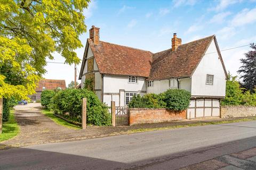
{"label": "thin grass verge between the road and the garden walls", "polygon": [[251,118],[242,118],[242,119],[230,120],[230,121],[217,121],[217,122],[204,122],[204,123],[201,122],[201,123],[193,123],[193,124],[186,124],[186,125],[166,126],[162,128],[141,128],[141,129],[129,130],[126,133],[130,134],[130,133],[159,131],[159,130],[167,130],[167,129],[188,128],[193,126],[206,126],[206,125],[223,124],[223,123],[248,122],[248,121],[255,121],[255,120],[256,120],[256,117],[251,117]]}

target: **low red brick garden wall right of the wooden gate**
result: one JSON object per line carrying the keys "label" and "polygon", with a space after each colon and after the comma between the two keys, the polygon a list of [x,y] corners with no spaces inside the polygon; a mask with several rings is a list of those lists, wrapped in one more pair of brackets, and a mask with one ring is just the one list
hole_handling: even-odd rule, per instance
{"label": "low red brick garden wall right of the wooden gate", "polygon": [[186,111],[167,109],[130,108],[129,125],[178,121],[186,118]]}

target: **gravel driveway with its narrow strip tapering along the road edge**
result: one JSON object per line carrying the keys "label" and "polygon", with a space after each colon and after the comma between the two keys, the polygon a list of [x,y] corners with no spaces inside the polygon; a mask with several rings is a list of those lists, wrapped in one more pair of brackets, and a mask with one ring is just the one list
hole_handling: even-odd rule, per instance
{"label": "gravel driveway with its narrow strip tapering along the road edge", "polygon": [[138,129],[165,128],[177,125],[188,125],[205,122],[218,122],[239,118],[204,118],[199,120],[182,120],[163,123],[138,124],[132,126],[87,126],[85,130],[69,129],[56,124],[49,117],[41,113],[42,106],[39,103],[15,106],[15,118],[20,126],[17,137],[0,142],[1,148],[21,147],[42,143],[65,142],[83,139],[107,137],[112,135],[127,134]]}

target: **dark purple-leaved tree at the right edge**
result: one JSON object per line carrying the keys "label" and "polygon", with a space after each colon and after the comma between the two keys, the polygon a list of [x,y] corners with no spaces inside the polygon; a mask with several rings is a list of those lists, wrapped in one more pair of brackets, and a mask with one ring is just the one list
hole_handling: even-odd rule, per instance
{"label": "dark purple-leaved tree at the right edge", "polygon": [[238,73],[242,73],[244,88],[254,92],[256,88],[256,44],[253,43],[250,47],[253,50],[245,53],[245,58],[240,60],[243,65],[239,68]]}

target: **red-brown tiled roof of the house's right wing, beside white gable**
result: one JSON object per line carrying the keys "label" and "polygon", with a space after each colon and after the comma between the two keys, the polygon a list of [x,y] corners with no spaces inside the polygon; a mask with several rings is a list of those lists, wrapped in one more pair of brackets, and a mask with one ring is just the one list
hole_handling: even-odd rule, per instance
{"label": "red-brown tiled roof of the house's right wing, beside white gable", "polygon": [[147,80],[190,77],[215,36],[206,37],[153,55]]}

